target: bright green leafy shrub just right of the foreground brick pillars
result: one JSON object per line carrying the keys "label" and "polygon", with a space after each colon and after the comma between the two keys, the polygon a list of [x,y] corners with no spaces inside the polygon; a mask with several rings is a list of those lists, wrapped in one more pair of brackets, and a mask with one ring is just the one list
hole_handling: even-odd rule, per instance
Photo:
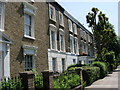
{"label": "bright green leafy shrub just right of the foreground brick pillars", "polygon": [[70,89],[80,84],[80,76],[76,73],[63,73],[54,78],[54,88]]}

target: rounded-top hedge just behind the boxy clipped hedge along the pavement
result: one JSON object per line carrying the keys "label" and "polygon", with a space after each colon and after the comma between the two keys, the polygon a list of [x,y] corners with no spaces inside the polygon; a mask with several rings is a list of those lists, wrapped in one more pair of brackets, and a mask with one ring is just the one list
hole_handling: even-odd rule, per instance
{"label": "rounded-top hedge just behind the boxy clipped hedge along the pavement", "polygon": [[92,65],[100,68],[100,78],[104,78],[107,75],[107,64],[104,62],[95,61]]}

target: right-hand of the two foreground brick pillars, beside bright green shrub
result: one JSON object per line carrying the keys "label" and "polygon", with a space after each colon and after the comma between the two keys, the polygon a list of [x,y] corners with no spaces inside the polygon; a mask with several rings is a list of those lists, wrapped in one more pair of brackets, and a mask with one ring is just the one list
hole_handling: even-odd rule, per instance
{"label": "right-hand of the two foreground brick pillars, beside bright green shrub", "polygon": [[42,72],[42,74],[43,74],[43,88],[45,90],[53,89],[53,72],[45,70]]}

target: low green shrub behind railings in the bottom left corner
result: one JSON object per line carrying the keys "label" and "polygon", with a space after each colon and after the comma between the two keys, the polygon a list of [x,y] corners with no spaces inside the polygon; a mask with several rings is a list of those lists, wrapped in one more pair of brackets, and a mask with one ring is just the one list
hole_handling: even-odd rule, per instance
{"label": "low green shrub behind railings in the bottom left corner", "polygon": [[22,90],[22,82],[19,77],[5,78],[0,82],[0,90]]}

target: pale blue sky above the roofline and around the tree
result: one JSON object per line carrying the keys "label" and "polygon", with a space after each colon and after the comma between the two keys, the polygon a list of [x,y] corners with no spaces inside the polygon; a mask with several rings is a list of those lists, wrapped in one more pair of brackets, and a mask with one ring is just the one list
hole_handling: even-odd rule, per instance
{"label": "pale blue sky above the roofline and around the tree", "polygon": [[[96,0],[97,1],[97,0]],[[109,22],[114,25],[116,34],[118,35],[118,2],[106,1],[106,2],[89,2],[89,1],[57,1],[66,11],[68,11],[75,19],[83,24],[89,31],[88,24],[86,23],[86,15],[91,11],[92,7],[98,8],[100,11],[106,14],[109,18]]]}

